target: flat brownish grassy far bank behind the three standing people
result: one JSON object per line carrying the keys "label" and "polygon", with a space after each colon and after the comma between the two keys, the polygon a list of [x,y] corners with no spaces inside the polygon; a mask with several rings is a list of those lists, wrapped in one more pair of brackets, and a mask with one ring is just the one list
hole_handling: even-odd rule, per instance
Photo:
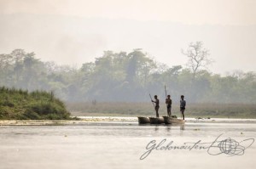
{"label": "flat brownish grassy far bank behind the three standing people", "polygon": [[[172,115],[180,115],[179,105],[172,105]],[[149,103],[67,103],[72,115],[154,116]],[[256,104],[188,104],[187,117],[256,118]],[[166,115],[166,105],[160,104],[160,115]]]}

